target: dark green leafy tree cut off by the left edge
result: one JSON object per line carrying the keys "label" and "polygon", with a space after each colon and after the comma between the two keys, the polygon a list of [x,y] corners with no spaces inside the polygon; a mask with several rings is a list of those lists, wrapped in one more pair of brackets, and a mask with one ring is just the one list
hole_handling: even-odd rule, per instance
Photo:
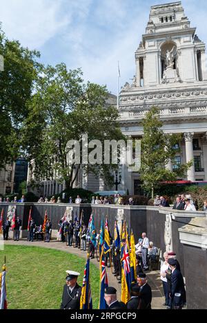
{"label": "dark green leafy tree cut off by the left edge", "polygon": [[28,115],[27,102],[39,64],[39,52],[10,41],[1,30],[0,54],[4,71],[0,72],[0,168],[19,155],[19,130]]}

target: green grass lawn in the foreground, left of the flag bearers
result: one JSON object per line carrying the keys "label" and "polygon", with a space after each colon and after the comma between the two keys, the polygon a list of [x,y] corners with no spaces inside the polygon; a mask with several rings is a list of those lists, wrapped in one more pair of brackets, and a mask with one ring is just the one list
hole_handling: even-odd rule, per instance
{"label": "green grass lawn in the foreground, left of the flag bearers", "polygon": [[[86,260],[70,253],[41,247],[5,246],[8,309],[59,309],[66,270],[79,271],[82,286]],[[99,303],[99,269],[90,264],[93,309]]]}

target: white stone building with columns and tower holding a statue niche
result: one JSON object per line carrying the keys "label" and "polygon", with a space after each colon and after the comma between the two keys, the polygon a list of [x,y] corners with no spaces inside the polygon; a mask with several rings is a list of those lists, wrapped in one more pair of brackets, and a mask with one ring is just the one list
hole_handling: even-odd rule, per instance
{"label": "white stone building with columns and tower holding a statue niche", "polygon": [[[205,44],[184,14],[181,2],[150,8],[146,34],[135,52],[136,74],[119,96],[121,131],[141,138],[141,120],[152,106],[160,111],[166,134],[181,134],[181,154],[169,160],[193,160],[186,180],[207,180],[207,72]],[[174,165],[175,164],[175,165]],[[139,174],[122,167],[122,187],[139,193]]]}

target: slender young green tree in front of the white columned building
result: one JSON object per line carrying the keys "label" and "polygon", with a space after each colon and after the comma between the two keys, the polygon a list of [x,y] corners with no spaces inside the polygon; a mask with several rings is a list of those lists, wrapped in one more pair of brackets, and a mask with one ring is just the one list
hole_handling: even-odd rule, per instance
{"label": "slender young green tree in front of the white columned building", "polygon": [[144,136],[141,140],[141,181],[146,191],[151,192],[152,198],[154,190],[159,187],[159,183],[165,180],[176,180],[177,176],[186,176],[187,169],[192,165],[192,161],[186,165],[177,164],[173,171],[166,169],[169,160],[173,160],[179,147],[175,145],[181,140],[179,134],[164,134],[161,127],[163,122],[159,118],[159,110],[152,107],[147,112],[142,125]]}

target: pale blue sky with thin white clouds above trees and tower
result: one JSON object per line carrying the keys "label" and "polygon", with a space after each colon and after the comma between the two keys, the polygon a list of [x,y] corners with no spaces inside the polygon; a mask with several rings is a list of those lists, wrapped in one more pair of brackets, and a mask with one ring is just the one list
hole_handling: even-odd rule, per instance
{"label": "pale blue sky with thin white clouds above trees and tower", "polygon": [[[0,0],[2,29],[10,39],[41,52],[41,61],[81,67],[86,81],[117,92],[135,74],[135,50],[150,6],[167,0]],[[183,0],[191,27],[207,43],[207,1]]]}

